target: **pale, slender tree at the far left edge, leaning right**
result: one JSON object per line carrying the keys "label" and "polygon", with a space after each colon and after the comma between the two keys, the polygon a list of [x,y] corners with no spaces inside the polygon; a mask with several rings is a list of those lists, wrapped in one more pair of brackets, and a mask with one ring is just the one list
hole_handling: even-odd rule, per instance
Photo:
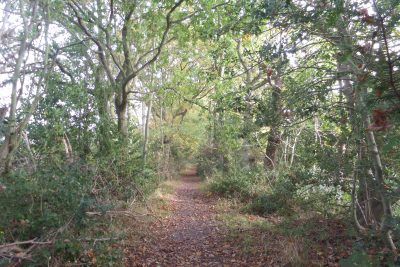
{"label": "pale, slender tree at the far left edge, leaning right", "polygon": [[[38,1],[21,0],[18,1],[18,3],[15,3],[15,5],[17,6],[14,6],[14,8],[15,10],[19,11],[23,27],[21,29],[21,37],[18,38],[18,43],[16,45],[18,52],[16,53],[17,57],[15,64],[10,67],[7,65],[7,62],[3,62],[4,68],[11,69],[10,73],[12,73],[12,77],[9,80],[11,83],[11,102],[9,106],[9,116],[7,118],[8,125],[5,134],[5,140],[0,148],[0,162],[2,163],[1,165],[4,167],[5,172],[9,171],[12,163],[13,153],[18,148],[23,132],[36,110],[42,94],[42,87],[46,87],[48,71],[51,68],[49,61],[49,19],[47,3],[44,4],[44,10],[41,9]],[[11,5],[8,6],[6,12],[9,12],[11,7]],[[40,20],[40,15],[43,17],[42,20]],[[43,32],[34,31],[34,29],[37,28],[42,22],[44,22]],[[11,32],[12,30],[9,29],[8,31]],[[31,49],[31,44],[41,34],[44,34],[45,36],[45,41],[42,44],[44,47],[44,53],[41,55],[43,63],[41,67],[36,68],[36,62],[30,62],[31,60],[29,58],[27,59],[26,56],[27,52]],[[5,47],[3,47],[5,50],[7,50],[7,45],[9,45],[7,43],[7,37],[10,38],[11,36],[2,36],[2,38],[6,39]],[[11,57],[13,52],[13,50],[9,50],[9,55]],[[29,75],[30,73],[33,73],[32,70],[29,70],[30,67],[33,68],[33,71],[39,72],[39,74]],[[25,81],[26,77],[28,78],[28,82]],[[27,95],[33,97],[28,106],[22,111],[18,110],[18,106],[20,105],[21,97],[26,94],[24,92],[26,89],[25,87],[30,90]],[[30,101],[30,99],[28,99],[28,101]]]}

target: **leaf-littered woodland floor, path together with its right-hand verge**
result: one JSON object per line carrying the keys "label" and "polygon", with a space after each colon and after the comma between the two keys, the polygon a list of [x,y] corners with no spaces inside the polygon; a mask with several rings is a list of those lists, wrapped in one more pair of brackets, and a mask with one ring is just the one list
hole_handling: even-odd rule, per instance
{"label": "leaf-littered woodland floor, path together with its right-hand verge", "polygon": [[343,231],[337,233],[341,225],[328,227],[335,231],[329,247],[305,248],[301,239],[271,230],[282,223],[279,218],[233,213],[201,186],[194,170],[171,183],[157,219],[134,226],[135,238],[125,246],[126,266],[337,266],[346,256],[348,247],[335,248],[345,241]]}

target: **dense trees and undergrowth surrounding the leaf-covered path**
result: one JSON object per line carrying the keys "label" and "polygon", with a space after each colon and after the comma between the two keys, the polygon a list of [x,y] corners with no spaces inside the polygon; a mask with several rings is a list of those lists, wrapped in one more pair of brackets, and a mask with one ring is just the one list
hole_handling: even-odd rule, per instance
{"label": "dense trees and undergrowth surrounding the leaf-covered path", "polygon": [[399,4],[0,1],[0,265],[119,262],[113,214],[188,162],[245,212],[351,222],[352,260],[395,261]]}

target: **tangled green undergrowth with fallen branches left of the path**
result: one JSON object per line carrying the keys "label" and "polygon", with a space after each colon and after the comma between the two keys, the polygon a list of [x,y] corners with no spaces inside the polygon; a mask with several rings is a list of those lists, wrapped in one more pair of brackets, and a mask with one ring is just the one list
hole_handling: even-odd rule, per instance
{"label": "tangled green undergrowth with fallen branches left of the path", "polygon": [[125,156],[46,159],[1,177],[0,244],[16,245],[0,245],[0,266],[120,265],[124,215],[112,212],[144,200],[161,180]]}

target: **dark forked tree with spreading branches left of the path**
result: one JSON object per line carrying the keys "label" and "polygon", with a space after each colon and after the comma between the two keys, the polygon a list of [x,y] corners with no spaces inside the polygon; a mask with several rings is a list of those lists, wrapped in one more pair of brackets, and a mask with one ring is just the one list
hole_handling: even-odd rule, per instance
{"label": "dark forked tree with spreading branches left of the path", "polygon": [[[145,1],[96,1],[95,5],[69,1],[67,4],[69,13],[63,14],[67,22],[75,25],[97,49],[96,57],[113,88],[118,131],[122,136],[128,135],[128,96],[134,91],[129,84],[158,59],[164,46],[171,41],[168,33],[176,23],[172,16],[183,2],[166,3],[165,6],[152,3],[150,7]],[[93,6],[97,10],[93,10]],[[160,23],[160,17],[164,23]],[[152,23],[157,28],[151,28]],[[122,27],[118,28],[118,25]],[[149,47],[152,43],[157,45]]]}

